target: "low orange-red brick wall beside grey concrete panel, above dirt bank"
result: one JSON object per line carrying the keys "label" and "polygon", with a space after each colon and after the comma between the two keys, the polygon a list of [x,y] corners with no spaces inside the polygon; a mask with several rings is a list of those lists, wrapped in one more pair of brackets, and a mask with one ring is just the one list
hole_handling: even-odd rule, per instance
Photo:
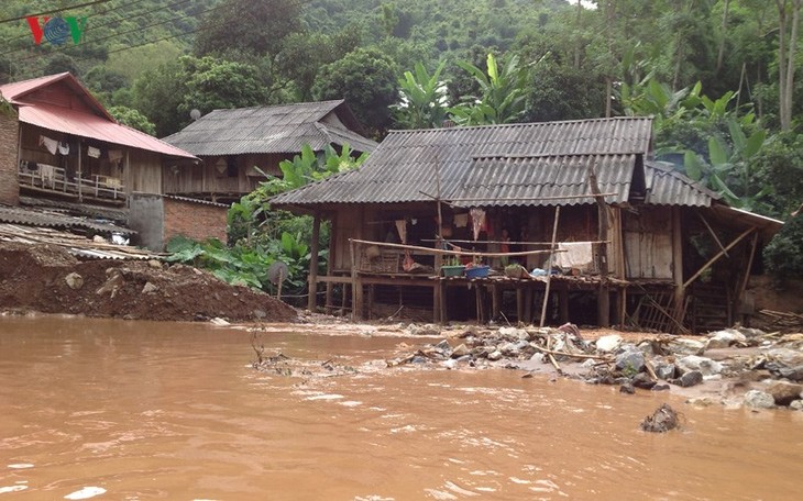
{"label": "low orange-red brick wall beside grey concrete panel, above dirt bank", "polygon": [[228,207],[164,197],[164,243],[177,235],[226,242]]}

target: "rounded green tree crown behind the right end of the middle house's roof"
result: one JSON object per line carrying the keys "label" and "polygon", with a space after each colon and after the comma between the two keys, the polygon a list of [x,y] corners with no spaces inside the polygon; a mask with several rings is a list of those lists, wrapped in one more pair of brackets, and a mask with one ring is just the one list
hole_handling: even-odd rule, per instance
{"label": "rounded green tree crown behind the right end of the middle house's roof", "polygon": [[312,96],[319,100],[345,99],[360,122],[374,135],[391,125],[391,104],[398,99],[396,63],[376,48],[358,48],[323,66]]}

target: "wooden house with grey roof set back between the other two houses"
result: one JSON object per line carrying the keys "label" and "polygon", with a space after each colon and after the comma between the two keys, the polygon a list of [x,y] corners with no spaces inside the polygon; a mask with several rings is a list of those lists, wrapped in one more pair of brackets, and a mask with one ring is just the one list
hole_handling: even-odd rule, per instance
{"label": "wooden house with grey roof set back between the other two houses", "polygon": [[349,144],[358,153],[376,143],[362,135],[345,101],[300,102],[215,110],[164,138],[197,155],[202,168],[177,167],[165,174],[165,193],[233,202],[264,180],[280,176],[278,165],[305,144],[321,154],[327,145]]}

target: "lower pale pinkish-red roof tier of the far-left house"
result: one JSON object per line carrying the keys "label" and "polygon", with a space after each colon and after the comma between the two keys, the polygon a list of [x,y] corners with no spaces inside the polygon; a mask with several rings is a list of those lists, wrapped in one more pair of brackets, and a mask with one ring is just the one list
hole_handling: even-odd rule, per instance
{"label": "lower pale pinkish-red roof tier of the far-left house", "polygon": [[19,111],[20,122],[50,131],[105,141],[163,155],[196,158],[184,149],[160,141],[144,132],[110,122],[96,114],[42,103],[21,104]]}

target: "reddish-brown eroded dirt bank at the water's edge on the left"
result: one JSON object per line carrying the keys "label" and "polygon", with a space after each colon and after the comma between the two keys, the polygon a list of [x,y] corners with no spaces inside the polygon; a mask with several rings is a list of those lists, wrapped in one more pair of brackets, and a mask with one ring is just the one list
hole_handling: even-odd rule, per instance
{"label": "reddish-brown eroded dirt bank at the water's edge on the left", "polygon": [[292,322],[286,303],[156,260],[79,261],[51,245],[0,243],[0,309],[131,320]]}

